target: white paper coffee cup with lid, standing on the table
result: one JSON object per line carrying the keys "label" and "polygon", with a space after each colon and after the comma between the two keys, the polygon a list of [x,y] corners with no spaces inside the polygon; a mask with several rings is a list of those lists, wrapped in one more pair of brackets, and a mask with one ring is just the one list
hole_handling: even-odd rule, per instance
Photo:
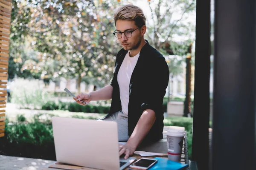
{"label": "white paper coffee cup with lid, standing on the table", "polygon": [[166,135],[168,159],[171,161],[180,162],[183,147],[183,139],[185,135],[185,128],[174,126],[170,127]]}

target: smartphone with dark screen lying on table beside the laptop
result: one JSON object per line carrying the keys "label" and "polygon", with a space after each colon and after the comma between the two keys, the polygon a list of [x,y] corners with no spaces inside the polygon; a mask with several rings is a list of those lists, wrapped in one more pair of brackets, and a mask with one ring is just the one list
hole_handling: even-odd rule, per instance
{"label": "smartphone with dark screen lying on table beside the laptop", "polygon": [[141,158],[131,164],[129,167],[135,170],[147,170],[157,163],[157,159]]}

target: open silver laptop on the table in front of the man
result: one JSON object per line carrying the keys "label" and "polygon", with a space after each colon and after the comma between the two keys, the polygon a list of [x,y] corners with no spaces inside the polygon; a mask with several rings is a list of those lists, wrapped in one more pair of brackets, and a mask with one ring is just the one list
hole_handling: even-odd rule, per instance
{"label": "open silver laptop on the table in front of the man", "polygon": [[119,158],[116,122],[52,117],[56,160],[103,170],[123,170],[136,158]]}

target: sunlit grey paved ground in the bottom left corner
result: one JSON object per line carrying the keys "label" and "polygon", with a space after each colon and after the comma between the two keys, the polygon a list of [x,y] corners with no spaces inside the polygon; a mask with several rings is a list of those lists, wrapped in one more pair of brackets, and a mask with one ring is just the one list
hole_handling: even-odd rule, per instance
{"label": "sunlit grey paved ground in the bottom left corner", "polygon": [[0,170],[41,170],[55,161],[0,155]]}

